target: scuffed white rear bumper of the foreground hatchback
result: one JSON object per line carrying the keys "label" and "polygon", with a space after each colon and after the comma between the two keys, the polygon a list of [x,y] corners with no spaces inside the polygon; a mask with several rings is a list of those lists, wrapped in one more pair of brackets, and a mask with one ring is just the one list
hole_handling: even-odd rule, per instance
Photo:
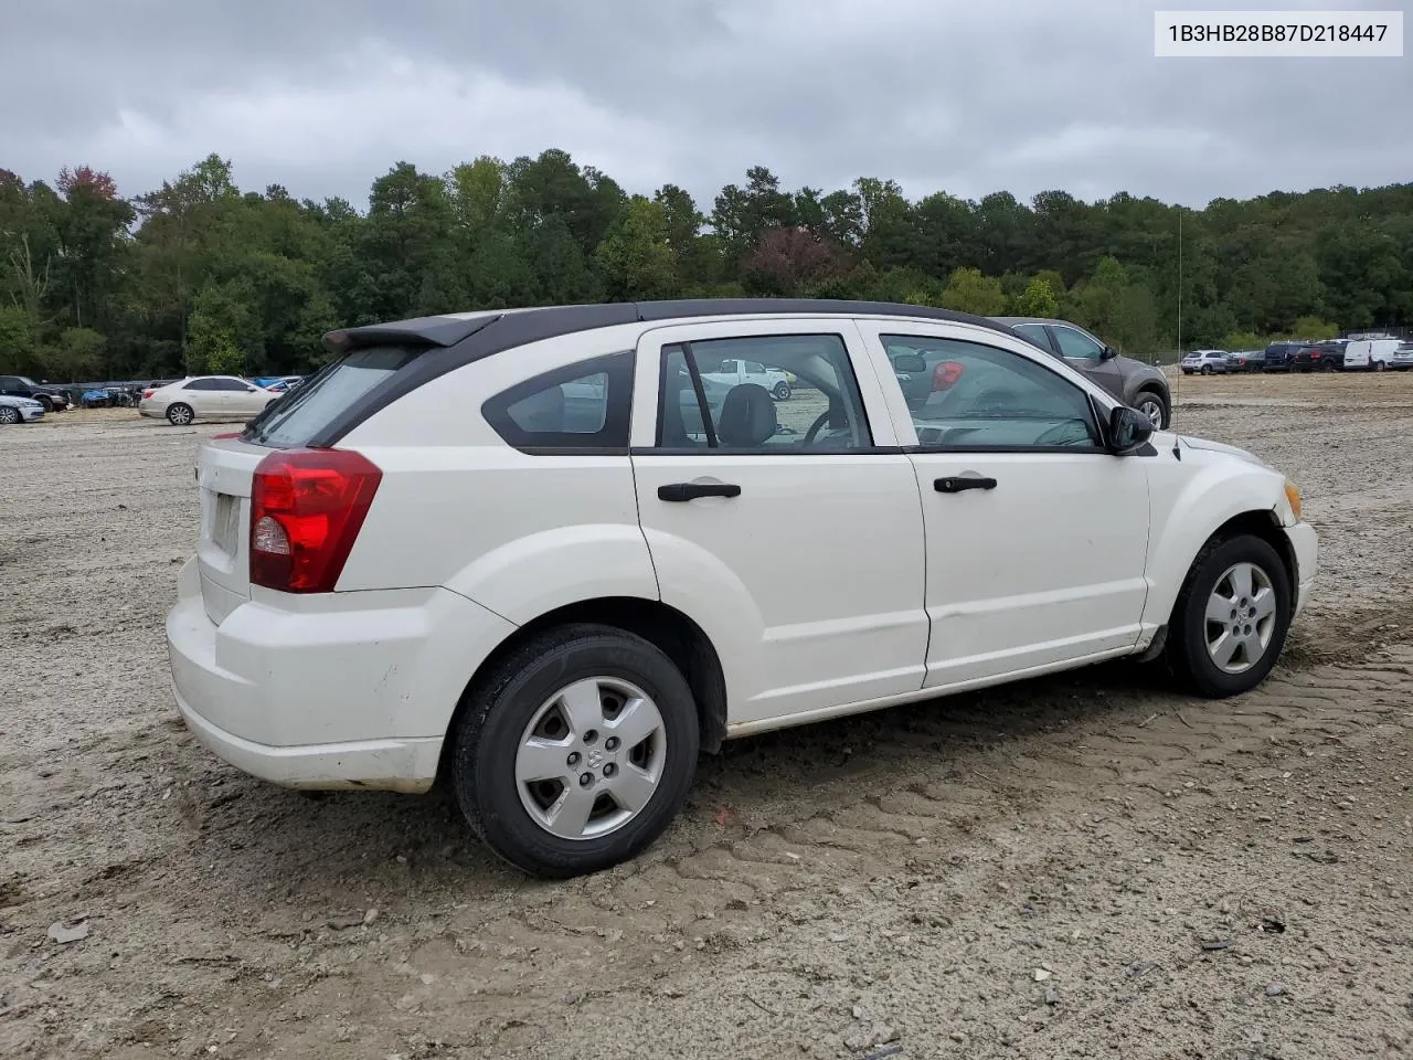
{"label": "scuffed white rear bumper of the foreground hatchback", "polygon": [[167,616],[187,728],[287,787],[422,791],[466,683],[514,626],[448,589],[247,601],[218,626],[196,563]]}

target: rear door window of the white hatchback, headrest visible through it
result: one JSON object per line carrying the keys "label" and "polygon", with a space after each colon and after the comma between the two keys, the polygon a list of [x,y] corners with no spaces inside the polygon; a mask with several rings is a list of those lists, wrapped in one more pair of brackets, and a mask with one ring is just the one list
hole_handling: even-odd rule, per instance
{"label": "rear door window of the white hatchback, headrest visible through it", "polygon": [[[739,383],[742,363],[764,379]],[[663,348],[660,449],[828,454],[872,444],[839,335],[759,335]]]}

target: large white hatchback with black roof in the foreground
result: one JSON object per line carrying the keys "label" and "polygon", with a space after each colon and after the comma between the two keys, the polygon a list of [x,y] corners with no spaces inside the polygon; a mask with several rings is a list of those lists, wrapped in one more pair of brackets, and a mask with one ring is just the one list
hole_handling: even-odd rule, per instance
{"label": "large white hatchback with black roof in the foreground", "polygon": [[[1005,325],[817,305],[331,334],[201,448],[167,619],[189,729],[291,787],[441,777],[565,876],[643,851],[728,738],[1125,656],[1211,697],[1266,677],[1317,565],[1279,471]],[[702,380],[745,348],[817,389],[807,430]],[[910,407],[892,349],[954,367]]]}

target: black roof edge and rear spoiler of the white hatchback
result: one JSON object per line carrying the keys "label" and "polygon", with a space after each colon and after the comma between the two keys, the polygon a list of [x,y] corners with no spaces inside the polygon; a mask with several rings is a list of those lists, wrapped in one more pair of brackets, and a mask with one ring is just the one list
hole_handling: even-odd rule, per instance
{"label": "black roof edge and rear spoiler of the white hatchback", "polygon": [[[903,302],[845,301],[831,298],[685,298],[656,302],[610,302],[603,305],[551,305],[506,311],[471,319],[452,317],[417,317],[389,324],[342,328],[324,336],[335,353],[356,346],[379,343],[424,345],[427,351],[411,365],[369,390],[333,417],[309,445],[338,444],[349,431],[374,413],[438,376],[465,367],[502,351],[524,346],[558,335],[571,335],[620,324],[688,319],[692,317],[743,317],[825,314],[841,317],[910,317],[913,319],[971,324],[999,335],[1030,342],[1009,325],[968,312],[938,310]],[[1033,343],[1031,343],[1033,345]]]}

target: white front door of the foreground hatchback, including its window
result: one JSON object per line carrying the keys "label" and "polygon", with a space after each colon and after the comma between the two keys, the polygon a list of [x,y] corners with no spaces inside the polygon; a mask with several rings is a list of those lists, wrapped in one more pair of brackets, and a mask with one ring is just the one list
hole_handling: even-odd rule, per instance
{"label": "white front door of the foreground hatchback, including its window", "polygon": [[899,438],[916,442],[927,687],[1132,649],[1147,596],[1146,461],[1104,448],[1081,382],[1041,351],[964,325],[859,329],[879,363],[904,348],[952,366],[924,403],[909,407],[896,384],[889,393]]}

